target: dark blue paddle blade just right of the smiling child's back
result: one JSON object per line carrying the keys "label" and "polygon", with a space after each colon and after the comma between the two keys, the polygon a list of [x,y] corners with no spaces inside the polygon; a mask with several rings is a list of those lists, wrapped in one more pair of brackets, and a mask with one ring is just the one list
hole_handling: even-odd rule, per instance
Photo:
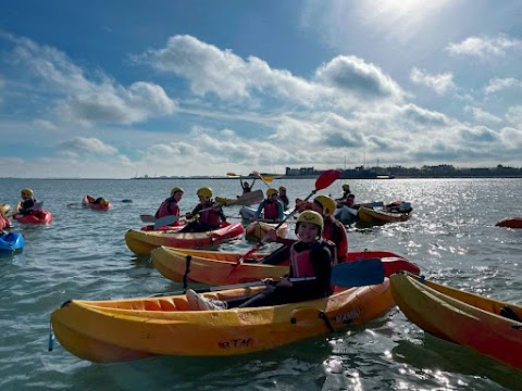
{"label": "dark blue paddle blade just right of the smiling child's back", "polygon": [[332,267],[331,282],[337,287],[363,287],[383,281],[381,258],[344,262]]}

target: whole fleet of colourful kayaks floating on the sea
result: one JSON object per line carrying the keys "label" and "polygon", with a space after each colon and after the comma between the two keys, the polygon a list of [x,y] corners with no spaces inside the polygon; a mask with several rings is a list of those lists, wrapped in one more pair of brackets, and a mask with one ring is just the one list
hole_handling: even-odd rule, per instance
{"label": "whole fleet of colourful kayaks floating on the sea", "polygon": [[[157,355],[239,355],[362,325],[398,305],[425,332],[522,370],[522,306],[426,280],[418,265],[388,251],[349,251],[344,264],[353,265],[356,282],[339,285],[332,279],[334,293],[327,298],[194,311],[185,294],[189,283],[210,286],[200,294],[223,301],[262,292],[268,288],[259,281],[288,274],[288,261],[273,265],[263,263],[268,253],[248,252],[245,257],[247,251],[221,249],[231,240],[264,242],[270,229],[276,229],[282,238],[287,235],[289,213],[283,222],[250,220],[253,210],[248,205],[260,202],[260,194],[262,200],[262,192],[254,191],[235,199],[216,198],[224,206],[241,206],[238,217],[243,222],[222,222],[210,231],[181,231],[184,220],[128,229],[124,235],[127,248],[136,255],[150,256],[153,267],[163,277],[183,283],[183,290],[149,298],[66,301],[51,314],[52,335],[72,354],[99,363]],[[112,207],[104,199],[95,202],[98,200],[85,195],[82,206],[96,211]],[[353,209],[341,205],[335,216],[345,225],[381,225],[406,222],[411,211],[390,211],[383,203]],[[52,214],[41,206],[30,215],[13,217],[23,224],[52,222]],[[496,225],[520,228],[520,217],[513,217]],[[0,235],[0,255],[13,254],[23,247],[21,234]],[[366,283],[360,276],[357,281],[357,265],[374,261],[382,267],[382,279],[370,276]]]}

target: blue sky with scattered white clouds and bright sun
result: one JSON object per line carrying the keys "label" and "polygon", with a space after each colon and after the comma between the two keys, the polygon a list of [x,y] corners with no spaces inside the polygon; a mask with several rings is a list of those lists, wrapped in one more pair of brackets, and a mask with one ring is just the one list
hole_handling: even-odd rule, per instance
{"label": "blue sky with scattered white clouds and bright sun", "polygon": [[522,166],[520,0],[4,1],[0,176]]}

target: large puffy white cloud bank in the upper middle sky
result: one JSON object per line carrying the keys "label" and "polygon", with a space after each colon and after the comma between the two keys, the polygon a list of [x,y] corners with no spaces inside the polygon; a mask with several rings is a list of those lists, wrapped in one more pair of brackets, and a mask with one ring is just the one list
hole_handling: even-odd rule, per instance
{"label": "large puffy white cloud bank in the upper middle sky", "polygon": [[361,99],[399,100],[403,94],[381,68],[356,56],[335,58],[316,70],[314,80],[306,80],[271,68],[256,56],[245,61],[231,50],[220,50],[195,37],[174,36],[164,48],[150,49],[134,60],[188,79],[199,97],[212,93],[244,105],[269,98],[291,105],[350,106]]}

